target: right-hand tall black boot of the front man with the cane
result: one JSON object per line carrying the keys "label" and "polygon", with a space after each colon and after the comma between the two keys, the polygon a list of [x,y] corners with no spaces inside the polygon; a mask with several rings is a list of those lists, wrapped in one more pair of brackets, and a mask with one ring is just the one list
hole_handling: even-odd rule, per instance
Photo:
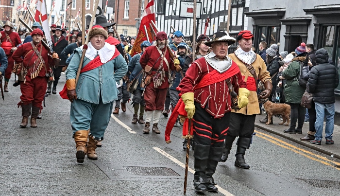
{"label": "right-hand tall black boot of the front man with the cane", "polygon": [[205,169],[205,175],[208,179],[208,183],[206,183],[207,191],[218,191],[218,188],[215,186],[216,183],[214,181],[213,175],[215,174],[217,164],[221,160],[223,149],[224,147],[210,147],[208,163]]}

